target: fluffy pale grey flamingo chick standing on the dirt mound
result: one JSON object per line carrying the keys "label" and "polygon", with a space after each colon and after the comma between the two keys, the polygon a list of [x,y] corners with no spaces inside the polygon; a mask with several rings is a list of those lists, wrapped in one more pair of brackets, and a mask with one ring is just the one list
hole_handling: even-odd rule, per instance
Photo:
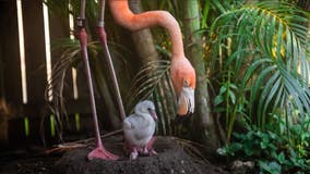
{"label": "fluffy pale grey flamingo chick standing on the dirt mound", "polygon": [[143,154],[157,154],[153,148],[155,137],[155,105],[150,100],[138,103],[134,113],[123,121],[126,148],[130,151],[130,159],[135,160],[139,152]]}

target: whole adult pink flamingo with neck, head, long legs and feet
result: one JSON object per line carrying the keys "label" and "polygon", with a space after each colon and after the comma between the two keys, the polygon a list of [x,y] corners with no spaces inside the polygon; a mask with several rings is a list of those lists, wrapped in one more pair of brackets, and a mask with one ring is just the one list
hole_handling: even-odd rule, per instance
{"label": "whole adult pink flamingo with neck, head, long legs and feet", "polygon": [[[92,114],[93,122],[96,134],[97,147],[88,153],[88,159],[104,159],[104,160],[117,160],[118,157],[110,153],[105,149],[100,139],[97,113],[96,113],[96,104],[94,98],[94,90],[92,84],[92,74],[90,71],[88,55],[87,55],[87,34],[85,30],[85,3],[86,0],[81,0],[81,13],[78,18],[78,37],[81,44],[81,52],[83,57],[83,61],[85,64],[85,73],[87,76],[87,85],[90,90],[90,100],[92,105]],[[178,95],[178,114],[187,115],[189,113],[193,113],[194,111],[194,88],[195,88],[195,72],[192,67],[191,63],[184,57],[183,51],[183,42],[182,35],[179,27],[178,22],[175,17],[165,11],[150,11],[141,14],[133,14],[128,7],[128,0],[109,0],[110,10],[115,17],[115,20],[122,26],[131,29],[139,30],[143,28],[147,28],[151,26],[163,26],[166,28],[171,38],[172,45],[172,58],[171,58],[171,79],[176,92]],[[111,63],[111,58],[109,54],[109,50],[107,47],[107,38],[104,29],[104,9],[105,9],[105,0],[100,0],[99,5],[99,18],[98,18],[98,35],[100,41],[104,46],[105,58],[107,59],[108,66],[110,69],[114,82],[114,88],[117,94],[117,101],[120,111],[120,116],[124,120],[124,110],[119,92],[119,87],[116,78],[116,74],[114,71],[114,66]],[[152,138],[147,145],[146,149],[153,149],[153,144],[155,141],[155,137]]]}

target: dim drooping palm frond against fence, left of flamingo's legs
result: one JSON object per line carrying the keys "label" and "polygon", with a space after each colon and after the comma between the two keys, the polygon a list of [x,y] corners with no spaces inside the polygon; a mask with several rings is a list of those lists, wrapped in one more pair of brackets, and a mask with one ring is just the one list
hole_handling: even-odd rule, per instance
{"label": "dim drooping palm frond against fence, left of flamingo's legs", "polygon": [[[87,48],[91,59],[95,58],[102,49],[98,41],[88,42]],[[58,53],[61,53],[61,57],[52,65],[51,77],[45,91],[45,99],[49,102],[49,109],[56,116],[57,133],[59,138],[62,139],[64,125],[70,125],[63,92],[68,83],[68,73],[70,74],[70,70],[82,61],[80,41],[70,38],[59,39],[52,44],[52,51],[58,51]],[[52,100],[49,101],[51,97]]]}

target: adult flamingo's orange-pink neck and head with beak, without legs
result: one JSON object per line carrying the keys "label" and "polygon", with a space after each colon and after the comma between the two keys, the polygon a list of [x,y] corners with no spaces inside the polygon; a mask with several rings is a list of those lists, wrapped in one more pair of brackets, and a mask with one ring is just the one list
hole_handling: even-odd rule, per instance
{"label": "adult flamingo's orange-pink neck and head with beak, without legs", "polygon": [[134,14],[129,9],[128,0],[109,0],[109,5],[116,22],[130,30],[140,30],[151,26],[162,26],[168,30],[172,45],[170,75],[178,95],[178,114],[193,113],[195,72],[184,57],[182,34],[176,18],[166,11]]}

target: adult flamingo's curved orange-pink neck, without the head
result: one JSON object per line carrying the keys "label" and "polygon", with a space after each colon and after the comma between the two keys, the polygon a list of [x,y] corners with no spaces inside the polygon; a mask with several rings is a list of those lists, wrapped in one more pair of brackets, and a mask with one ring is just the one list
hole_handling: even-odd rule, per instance
{"label": "adult flamingo's curved orange-pink neck, without the head", "polygon": [[176,18],[166,11],[148,11],[140,14],[131,12],[128,0],[109,0],[110,11],[118,24],[131,30],[162,26],[171,38],[172,59],[184,58],[182,34]]}

